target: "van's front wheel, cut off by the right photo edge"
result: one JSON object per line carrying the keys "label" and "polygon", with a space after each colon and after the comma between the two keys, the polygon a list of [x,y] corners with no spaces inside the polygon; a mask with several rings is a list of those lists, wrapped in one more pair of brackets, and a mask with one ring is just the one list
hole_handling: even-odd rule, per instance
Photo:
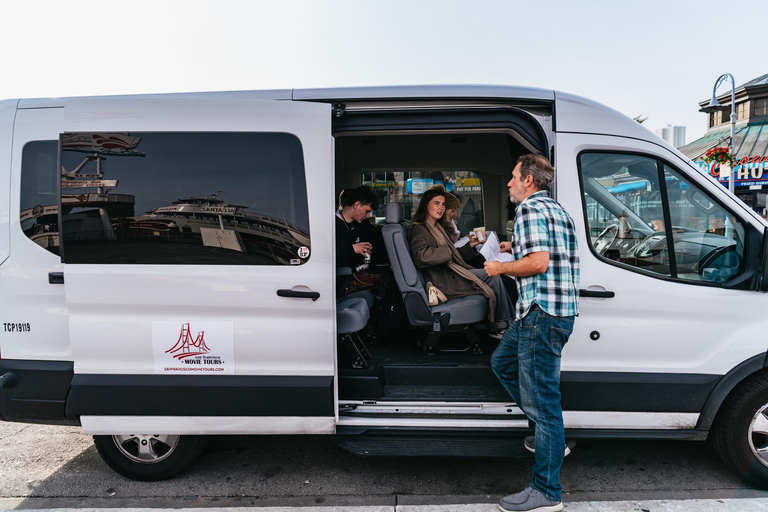
{"label": "van's front wheel, cut off by the right photo edge", "polygon": [[731,394],[718,414],[712,443],[727,465],[768,488],[768,375],[752,377]]}

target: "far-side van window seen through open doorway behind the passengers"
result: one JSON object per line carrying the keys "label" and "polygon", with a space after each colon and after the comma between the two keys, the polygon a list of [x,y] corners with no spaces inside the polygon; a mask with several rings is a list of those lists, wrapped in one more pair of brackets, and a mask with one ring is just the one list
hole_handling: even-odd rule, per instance
{"label": "far-side van window seen through open doorway behind the passengers", "polygon": [[421,195],[432,185],[440,184],[455,195],[461,206],[456,216],[460,233],[485,226],[483,187],[472,171],[438,172],[366,172],[363,185],[373,189],[379,198],[379,209],[373,212],[376,222],[384,222],[387,203],[403,203],[405,219],[409,221],[419,205]]}

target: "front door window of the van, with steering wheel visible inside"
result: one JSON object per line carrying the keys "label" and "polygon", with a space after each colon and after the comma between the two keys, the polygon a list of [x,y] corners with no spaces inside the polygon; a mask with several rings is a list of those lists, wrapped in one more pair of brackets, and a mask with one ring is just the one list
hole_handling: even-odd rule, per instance
{"label": "front door window of the van, with steering wheel visible inside", "polygon": [[584,153],[579,164],[600,258],[698,282],[724,282],[741,271],[744,226],[669,165],[611,153]]}

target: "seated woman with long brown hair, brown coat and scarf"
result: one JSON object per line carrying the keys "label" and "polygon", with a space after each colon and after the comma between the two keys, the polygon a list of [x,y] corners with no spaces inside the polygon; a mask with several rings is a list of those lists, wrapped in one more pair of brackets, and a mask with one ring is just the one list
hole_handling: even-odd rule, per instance
{"label": "seated woman with long brown hair, brown coat and scarf", "polygon": [[488,299],[488,317],[495,331],[507,327],[514,306],[501,278],[489,277],[485,270],[472,268],[453,246],[443,227],[445,191],[427,190],[411,220],[408,239],[411,256],[424,279],[448,299],[483,294]]}

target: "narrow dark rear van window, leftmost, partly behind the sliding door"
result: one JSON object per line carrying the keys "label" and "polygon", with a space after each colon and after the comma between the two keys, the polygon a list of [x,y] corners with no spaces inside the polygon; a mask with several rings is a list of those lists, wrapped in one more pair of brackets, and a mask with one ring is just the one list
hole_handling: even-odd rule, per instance
{"label": "narrow dark rear van window, leftmost, partly behind the sliding door", "polygon": [[40,247],[59,254],[59,208],[56,186],[58,142],[27,142],[21,152],[21,229]]}

